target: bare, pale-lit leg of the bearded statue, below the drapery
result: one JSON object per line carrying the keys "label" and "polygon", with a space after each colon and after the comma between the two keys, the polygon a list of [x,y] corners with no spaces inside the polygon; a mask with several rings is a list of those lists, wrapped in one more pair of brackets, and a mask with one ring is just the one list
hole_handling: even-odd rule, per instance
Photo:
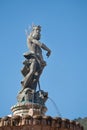
{"label": "bare, pale-lit leg of the bearded statue, below the drapery", "polygon": [[32,63],[30,65],[30,71],[24,78],[24,83],[23,83],[24,88],[29,86],[29,83],[31,82],[33,74],[35,73],[35,71],[36,71],[36,60],[32,59]]}

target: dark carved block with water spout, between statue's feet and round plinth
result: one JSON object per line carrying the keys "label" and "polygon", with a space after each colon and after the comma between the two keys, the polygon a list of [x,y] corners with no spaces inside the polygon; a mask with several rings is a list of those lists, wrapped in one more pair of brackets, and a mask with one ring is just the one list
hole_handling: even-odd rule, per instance
{"label": "dark carved block with water spout, between statue's feet and round plinth", "polygon": [[18,102],[33,102],[45,105],[45,102],[48,98],[48,93],[43,90],[32,93],[29,88],[25,88],[22,93],[18,94]]}

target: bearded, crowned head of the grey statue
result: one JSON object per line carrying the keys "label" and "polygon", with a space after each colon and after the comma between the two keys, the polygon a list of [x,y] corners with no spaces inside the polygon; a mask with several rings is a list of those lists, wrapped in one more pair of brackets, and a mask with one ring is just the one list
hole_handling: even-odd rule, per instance
{"label": "bearded, crowned head of the grey statue", "polygon": [[41,37],[41,26],[36,26],[34,25],[32,27],[32,33],[31,33],[31,36],[34,38],[34,39],[37,39],[37,40],[40,40],[40,37]]}

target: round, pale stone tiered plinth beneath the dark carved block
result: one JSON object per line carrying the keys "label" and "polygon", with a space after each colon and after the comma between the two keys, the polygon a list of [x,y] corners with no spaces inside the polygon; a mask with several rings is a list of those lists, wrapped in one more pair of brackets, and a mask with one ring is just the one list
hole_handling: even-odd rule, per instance
{"label": "round, pale stone tiered plinth beneath the dark carved block", "polygon": [[16,105],[11,107],[11,111],[13,112],[13,115],[41,115],[44,116],[47,108],[46,106],[42,106],[37,103],[31,103],[31,102],[22,102],[22,103],[17,103]]}

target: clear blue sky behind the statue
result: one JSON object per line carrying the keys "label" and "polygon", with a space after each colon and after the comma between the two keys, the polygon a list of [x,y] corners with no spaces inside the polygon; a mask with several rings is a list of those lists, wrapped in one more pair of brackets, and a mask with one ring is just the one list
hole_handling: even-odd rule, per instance
{"label": "clear blue sky behind the statue", "polygon": [[[40,78],[63,118],[87,116],[87,0],[0,0],[0,116],[11,114],[21,89],[25,29],[42,26],[51,50]],[[45,53],[44,53],[45,54]],[[58,112],[50,100],[47,115]]]}

